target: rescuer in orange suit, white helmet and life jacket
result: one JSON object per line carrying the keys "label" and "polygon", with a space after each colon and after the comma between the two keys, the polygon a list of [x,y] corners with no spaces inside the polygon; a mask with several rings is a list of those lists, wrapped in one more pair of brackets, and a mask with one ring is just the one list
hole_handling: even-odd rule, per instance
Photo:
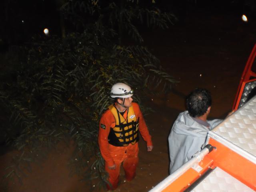
{"label": "rescuer in orange suit, white helmet and life jacket", "polygon": [[100,119],[98,142],[108,172],[107,188],[114,190],[118,186],[120,166],[123,162],[125,178],[132,180],[138,165],[139,133],[147,143],[148,151],[153,144],[142,112],[137,103],[132,102],[133,90],[124,83],[112,86],[110,96],[115,103],[108,107]]}

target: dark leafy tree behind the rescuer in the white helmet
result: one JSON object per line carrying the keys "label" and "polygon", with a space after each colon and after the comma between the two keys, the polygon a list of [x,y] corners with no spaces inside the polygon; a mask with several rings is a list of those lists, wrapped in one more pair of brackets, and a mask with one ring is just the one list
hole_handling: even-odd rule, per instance
{"label": "dark leafy tree behind the rescuer in the white helmet", "polygon": [[[150,18],[148,25],[166,28],[170,22],[170,14],[160,14],[154,6],[154,11],[140,10],[139,1],[122,2],[121,28],[135,40],[141,42],[142,38],[132,22],[137,17],[143,21],[142,13]],[[120,10],[115,2],[100,3],[104,4],[94,0],[64,4],[67,16],[84,22],[82,32],[67,33],[65,38],[34,38],[30,46],[22,48],[26,57],[6,67],[0,83],[0,107],[6,117],[1,124],[6,128],[6,142],[22,151],[6,177],[16,174],[20,178],[24,162],[35,161],[38,151],[71,138],[76,144],[70,160],[72,174],[106,182],[97,136],[100,117],[113,102],[111,86],[129,84],[135,90],[135,101],[140,102],[156,88],[169,91],[175,82],[146,47],[121,44],[120,30],[115,30],[120,29],[115,28],[120,24],[116,17]],[[77,6],[90,19],[79,14]]]}

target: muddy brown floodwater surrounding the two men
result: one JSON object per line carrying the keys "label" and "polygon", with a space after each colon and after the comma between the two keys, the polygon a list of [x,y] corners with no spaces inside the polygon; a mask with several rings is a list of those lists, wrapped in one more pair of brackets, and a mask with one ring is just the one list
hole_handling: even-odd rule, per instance
{"label": "muddy brown floodwater surrounding the two men", "polygon": [[[194,88],[207,88],[212,93],[210,118],[224,118],[232,109],[234,97],[247,58],[256,43],[255,22],[243,23],[240,15],[209,13],[190,9],[185,19],[168,30],[151,30],[144,41],[177,83],[173,92],[148,98],[156,112],[145,116],[154,149],[146,151],[139,141],[137,174],[126,182],[121,170],[120,186],[115,192],[147,192],[168,176],[168,134],[175,118],[185,110],[184,98]],[[3,170],[11,154],[0,157]],[[50,154],[40,166],[24,177],[24,184],[11,182],[2,187],[10,192],[86,192],[88,186],[69,177],[66,166],[70,152]]]}

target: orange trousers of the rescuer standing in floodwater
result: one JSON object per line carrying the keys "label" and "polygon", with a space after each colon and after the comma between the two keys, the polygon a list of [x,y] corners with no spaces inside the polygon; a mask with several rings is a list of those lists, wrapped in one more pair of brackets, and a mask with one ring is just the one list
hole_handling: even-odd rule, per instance
{"label": "orange trousers of the rescuer standing in floodwater", "polygon": [[115,164],[116,169],[110,170],[108,168],[108,163],[105,162],[105,170],[109,174],[108,181],[112,184],[112,188],[110,186],[107,187],[108,189],[116,189],[118,185],[118,179],[119,179],[119,172],[120,172],[120,166],[123,162],[123,168],[125,172],[125,178],[126,180],[130,181],[135,177],[136,174],[136,167],[138,165],[138,143],[132,145],[129,144],[126,147],[116,147],[116,146],[109,146],[110,155],[112,156]]}

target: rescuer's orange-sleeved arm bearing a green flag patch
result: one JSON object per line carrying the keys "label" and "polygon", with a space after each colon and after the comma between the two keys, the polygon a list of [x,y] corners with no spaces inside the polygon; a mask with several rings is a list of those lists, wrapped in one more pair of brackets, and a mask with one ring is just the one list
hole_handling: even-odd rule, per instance
{"label": "rescuer's orange-sleeved arm bearing a green flag patch", "polygon": [[108,146],[109,146],[108,134],[110,132],[110,126],[112,124],[111,120],[112,120],[112,116],[111,114],[110,115],[108,114],[108,111],[102,115],[100,119],[99,136],[98,136],[100,152],[104,160],[108,163],[108,166],[113,166],[115,164],[108,150]]}

